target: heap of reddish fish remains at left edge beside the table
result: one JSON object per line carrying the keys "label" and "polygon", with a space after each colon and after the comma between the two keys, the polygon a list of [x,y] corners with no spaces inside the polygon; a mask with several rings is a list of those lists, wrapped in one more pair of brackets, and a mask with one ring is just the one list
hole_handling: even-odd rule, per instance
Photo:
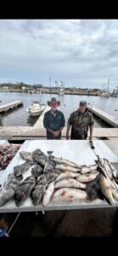
{"label": "heap of reddish fish remains at left edge beside the table", "polygon": [[6,169],[20,146],[21,144],[0,145],[0,170]]}

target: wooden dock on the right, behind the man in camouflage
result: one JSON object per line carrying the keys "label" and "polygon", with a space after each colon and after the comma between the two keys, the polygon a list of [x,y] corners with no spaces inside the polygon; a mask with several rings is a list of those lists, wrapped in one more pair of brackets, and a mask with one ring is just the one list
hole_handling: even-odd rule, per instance
{"label": "wooden dock on the right, behind the man in camouflage", "polygon": [[87,108],[112,127],[118,127],[118,119],[115,116],[111,115],[110,113],[106,113],[103,110],[94,107],[93,105],[87,105]]}

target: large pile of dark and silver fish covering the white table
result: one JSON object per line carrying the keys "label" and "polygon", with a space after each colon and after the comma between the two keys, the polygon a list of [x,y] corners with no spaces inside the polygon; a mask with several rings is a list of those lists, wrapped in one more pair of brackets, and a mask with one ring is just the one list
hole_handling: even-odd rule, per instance
{"label": "large pile of dark and silver fish covering the white table", "polygon": [[[20,156],[25,162],[14,166],[0,190],[0,206],[14,198],[17,207],[31,196],[34,206],[53,203],[90,202],[97,198],[114,205],[118,201],[118,171],[98,156],[95,165],[79,166],[70,160],[44,154],[41,149]],[[24,178],[24,173],[31,175]],[[9,181],[10,180],[10,181]]]}

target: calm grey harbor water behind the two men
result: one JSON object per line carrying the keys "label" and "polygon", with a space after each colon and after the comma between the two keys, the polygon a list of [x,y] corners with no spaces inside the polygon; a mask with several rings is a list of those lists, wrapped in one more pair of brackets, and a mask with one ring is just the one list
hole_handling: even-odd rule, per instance
{"label": "calm grey harbor water behind the two men", "polygon": [[[2,104],[22,101],[23,106],[16,108],[8,113],[2,113],[2,120],[0,125],[3,126],[33,126],[38,117],[30,117],[29,113],[25,111],[25,108],[29,107],[33,101],[40,101],[42,104],[46,104],[51,97],[56,97],[60,102],[59,110],[65,114],[65,122],[70,117],[70,113],[78,108],[79,102],[81,100],[87,101],[87,103],[93,104],[95,107],[104,110],[111,115],[118,118],[118,98],[110,97],[104,98],[100,96],[58,96],[51,94],[26,94],[26,93],[16,93],[16,92],[0,92],[0,100]],[[101,119],[94,117],[95,127],[110,127],[110,125],[105,124]],[[65,125],[66,125],[65,124]]]}

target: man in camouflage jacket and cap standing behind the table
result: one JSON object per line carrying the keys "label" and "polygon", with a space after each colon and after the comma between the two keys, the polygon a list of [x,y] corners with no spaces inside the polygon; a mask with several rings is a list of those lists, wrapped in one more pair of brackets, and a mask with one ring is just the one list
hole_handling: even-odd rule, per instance
{"label": "man in camouflage jacket and cap standing behind the table", "polygon": [[66,139],[69,139],[69,131],[71,127],[70,139],[84,140],[87,139],[88,127],[90,128],[90,140],[93,140],[93,114],[87,109],[87,102],[80,102],[79,108],[70,114],[68,119]]}

